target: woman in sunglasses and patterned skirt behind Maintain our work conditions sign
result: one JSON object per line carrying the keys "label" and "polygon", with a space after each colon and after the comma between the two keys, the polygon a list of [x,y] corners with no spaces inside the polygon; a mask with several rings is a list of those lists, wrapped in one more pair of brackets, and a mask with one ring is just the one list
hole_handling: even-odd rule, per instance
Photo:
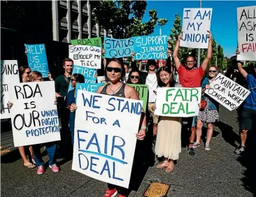
{"label": "woman in sunglasses and patterned skirt behind Maintain our work conditions sign", "polygon": [[210,150],[210,140],[213,136],[213,123],[219,121],[219,112],[218,112],[218,102],[213,100],[207,94],[204,94],[206,89],[210,88],[210,84],[213,82],[215,76],[218,75],[218,68],[216,66],[211,66],[208,70],[208,78],[204,78],[204,81],[201,84],[201,99],[207,102],[206,108],[199,111],[197,117],[197,142],[194,143],[193,147],[200,146],[201,139],[201,129],[203,127],[203,122],[207,123],[207,136],[206,136],[206,145],[204,149]]}

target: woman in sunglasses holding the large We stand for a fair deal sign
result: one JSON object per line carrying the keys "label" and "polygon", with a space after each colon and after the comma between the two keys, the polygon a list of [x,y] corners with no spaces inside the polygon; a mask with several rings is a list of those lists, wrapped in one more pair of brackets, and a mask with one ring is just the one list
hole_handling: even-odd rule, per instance
{"label": "woman in sunglasses holding the large We stand for a fair deal sign", "polygon": [[[99,87],[97,93],[139,100],[138,94],[134,87],[129,87],[129,85],[125,85],[125,83],[122,82],[125,78],[125,66],[121,61],[118,59],[110,59],[106,64],[105,77],[106,80],[109,81],[109,84]],[[143,122],[141,130],[136,134],[136,138],[138,140],[143,140],[145,138],[145,113],[142,113],[141,115],[143,115]],[[108,184],[108,189],[106,190],[106,194],[104,196],[116,196],[118,194],[117,188],[118,187],[113,184]],[[127,191],[128,189],[120,187],[119,197],[127,196]]]}

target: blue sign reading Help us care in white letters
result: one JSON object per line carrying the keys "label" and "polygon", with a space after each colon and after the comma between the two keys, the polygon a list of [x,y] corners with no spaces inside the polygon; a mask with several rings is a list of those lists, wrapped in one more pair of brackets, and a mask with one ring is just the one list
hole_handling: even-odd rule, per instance
{"label": "blue sign reading Help us care in white letters", "polygon": [[38,71],[43,75],[43,78],[48,78],[49,68],[45,52],[45,44],[27,45],[27,61],[31,71]]}

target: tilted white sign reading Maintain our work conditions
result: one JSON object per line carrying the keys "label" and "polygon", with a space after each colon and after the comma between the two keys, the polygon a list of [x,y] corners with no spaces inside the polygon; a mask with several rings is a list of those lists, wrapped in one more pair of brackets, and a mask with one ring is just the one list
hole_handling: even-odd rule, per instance
{"label": "tilted white sign reading Maintain our work conditions", "polygon": [[218,73],[210,86],[211,88],[206,89],[205,93],[230,111],[239,107],[250,94],[248,89],[221,73]]}

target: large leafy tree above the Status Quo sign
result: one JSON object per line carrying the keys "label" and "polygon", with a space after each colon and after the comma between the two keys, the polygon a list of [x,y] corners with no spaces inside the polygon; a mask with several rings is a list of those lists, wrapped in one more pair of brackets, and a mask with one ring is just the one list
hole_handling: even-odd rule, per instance
{"label": "large leafy tree above the Status Quo sign", "polygon": [[92,1],[94,22],[110,29],[113,38],[150,35],[157,24],[163,26],[168,20],[158,19],[157,11],[149,11],[150,20],[142,22],[146,1]]}

